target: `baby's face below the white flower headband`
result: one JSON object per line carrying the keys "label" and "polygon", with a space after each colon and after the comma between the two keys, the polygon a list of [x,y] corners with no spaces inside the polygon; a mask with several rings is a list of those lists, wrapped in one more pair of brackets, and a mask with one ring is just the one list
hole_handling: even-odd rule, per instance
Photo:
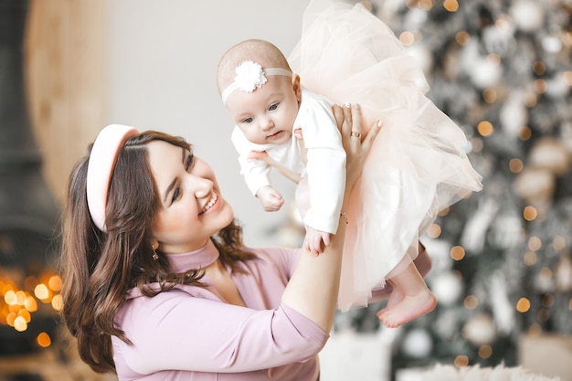
{"label": "baby's face below the white flower headband", "polygon": [[260,89],[235,90],[226,106],[233,121],[246,138],[256,144],[282,144],[291,139],[298,114],[298,97],[291,79],[268,76]]}

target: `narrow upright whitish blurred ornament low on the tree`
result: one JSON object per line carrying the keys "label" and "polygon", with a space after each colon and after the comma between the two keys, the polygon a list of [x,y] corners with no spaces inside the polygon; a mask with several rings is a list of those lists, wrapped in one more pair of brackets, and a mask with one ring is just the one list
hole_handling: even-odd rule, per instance
{"label": "narrow upright whitish blurred ornament low on the tree", "polygon": [[494,322],[499,333],[510,333],[514,327],[514,308],[508,299],[508,287],[503,270],[496,270],[491,276],[489,287],[490,304],[493,309]]}

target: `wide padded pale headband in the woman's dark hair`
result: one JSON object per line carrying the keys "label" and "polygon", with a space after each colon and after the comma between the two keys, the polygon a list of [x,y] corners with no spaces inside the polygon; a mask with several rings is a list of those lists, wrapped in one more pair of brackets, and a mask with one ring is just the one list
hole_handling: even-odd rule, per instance
{"label": "wide padded pale headband in the woman's dark hair", "polygon": [[133,127],[110,124],[101,130],[91,147],[86,193],[91,220],[101,231],[107,231],[105,206],[117,156],[125,142],[137,133],[139,131]]}

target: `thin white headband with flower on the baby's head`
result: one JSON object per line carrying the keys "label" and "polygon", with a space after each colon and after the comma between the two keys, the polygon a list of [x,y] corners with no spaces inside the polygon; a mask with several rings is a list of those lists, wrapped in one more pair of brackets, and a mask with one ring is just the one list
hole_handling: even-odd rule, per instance
{"label": "thin white headband with flower on the baby's head", "polygon": [[222,102],[226,103],[228,96],[234,90],[252,92],[260,89],[266,83],[266,76],[285,76],[291,77],[292,73],[288,69],[270,68],[262,69],[259,63],[252,61],[244,61],[236,69],[236,77],[234,82],[228,85],[227,89],[222,92]]}

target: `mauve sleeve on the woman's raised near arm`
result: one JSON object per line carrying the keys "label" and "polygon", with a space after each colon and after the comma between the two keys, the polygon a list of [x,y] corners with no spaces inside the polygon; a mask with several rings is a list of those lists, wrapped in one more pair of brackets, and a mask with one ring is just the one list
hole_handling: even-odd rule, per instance
{"label": "mauve sleeve on the woman's raised near arm", "polygon": [[329,337],[284,305],[257,311],[182,290],[133,298],[117,323],[132,341],[122,344],[122,360],[143,375],[165,369],[248,372],[303,362]]}

